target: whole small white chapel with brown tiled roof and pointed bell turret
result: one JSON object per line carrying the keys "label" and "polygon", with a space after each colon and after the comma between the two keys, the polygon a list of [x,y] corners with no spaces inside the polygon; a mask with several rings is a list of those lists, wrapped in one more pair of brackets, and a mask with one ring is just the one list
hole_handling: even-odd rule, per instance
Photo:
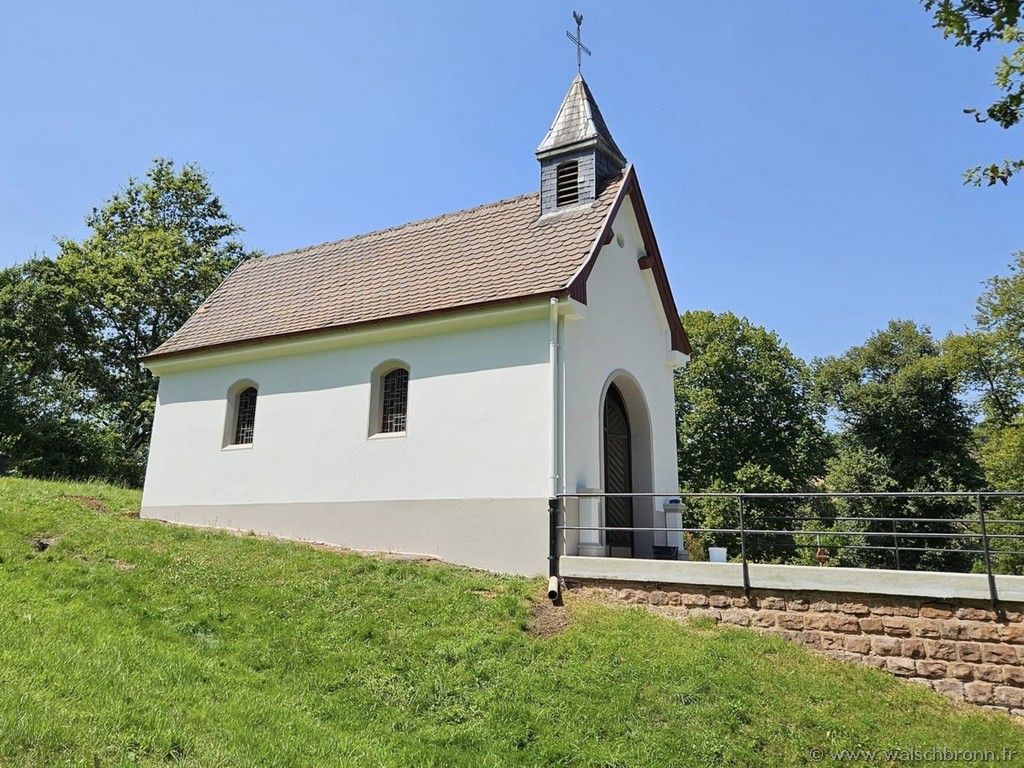
{"label": "whole small white chapel with brown tiled roof and pointed bell turret", "polygon": [[[520,197],[241,264],[143,360],[142,516],[536,574],[550,498],[672,495],[689,342],[582,75],[535,158]],[[663,501],[566,499],[637,530],[565,554],[651,557]]]}

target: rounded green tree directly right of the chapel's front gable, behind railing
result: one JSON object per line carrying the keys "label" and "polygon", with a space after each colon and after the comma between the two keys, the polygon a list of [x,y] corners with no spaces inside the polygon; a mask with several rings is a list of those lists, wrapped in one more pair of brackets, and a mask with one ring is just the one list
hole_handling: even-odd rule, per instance
{"label": "rounded green tree directly right of the chapel's front gable, behind railing", "polygon": [[[823,467],[826,452],[819,414],[808,391],[807,366],[774,333],[731,312],[682,316],[693,354],[676,373],[679,476],[686,490],[803,489]],[[731,502],[700,502],[702,527],[734,527]],[[792,513],[779,502],[752,505],[750,527],[785,528]],[[734,538],[726,544],[733,551]],[[753,554],[791,555],[788,542],[761,538]]]}

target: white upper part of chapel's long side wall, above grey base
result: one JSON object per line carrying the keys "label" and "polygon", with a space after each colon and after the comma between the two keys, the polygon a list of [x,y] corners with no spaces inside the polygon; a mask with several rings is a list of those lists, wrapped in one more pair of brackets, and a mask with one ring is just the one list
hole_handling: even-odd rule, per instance
{"label": "white upper part of chapel's long side wall, above grey base", "polygon": [[[190,505],[544,499],[551,474],[548,334],[538,316],[165,373],[143,513]],[[368,437],[371,372],[389,358],[410,367],[409,428],[404,436]],[[251,447],[224,449],[227,391],[240,379],[259,385],[255,437]]]}

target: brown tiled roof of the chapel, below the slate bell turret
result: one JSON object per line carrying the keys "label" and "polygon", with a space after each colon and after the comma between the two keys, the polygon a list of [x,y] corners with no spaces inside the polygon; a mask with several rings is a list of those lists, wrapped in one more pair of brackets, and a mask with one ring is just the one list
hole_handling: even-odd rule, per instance
{"label": "brown tiled roof of the chapel, below the slate bell turret", "polygon": [[621,184],[544,217],[525,195],[246,261],[147,357],[564,292]]}

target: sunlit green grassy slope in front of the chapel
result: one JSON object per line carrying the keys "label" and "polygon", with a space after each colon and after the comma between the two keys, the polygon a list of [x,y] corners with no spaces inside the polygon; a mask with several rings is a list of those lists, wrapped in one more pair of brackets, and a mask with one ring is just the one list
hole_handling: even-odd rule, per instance
{"label": "sunlit green grassy slope in front of the chapel", "polygon": [[[94,510],[73,497],[96,497]],[[743,630],[538,583],[131,519],[0,479],[0,765],[802,765],[1024,728]],[[45,552],[35,537],[60,537]]]}

